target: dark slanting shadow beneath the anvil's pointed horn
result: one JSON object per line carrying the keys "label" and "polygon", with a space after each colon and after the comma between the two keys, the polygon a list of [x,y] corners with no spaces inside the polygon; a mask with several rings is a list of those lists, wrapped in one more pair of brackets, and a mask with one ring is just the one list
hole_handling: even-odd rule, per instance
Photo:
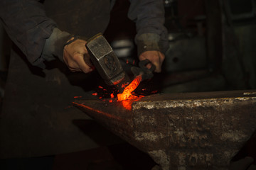
{"label": "dark slanting shadow beneath the anvil's pointed horn", "polygon": [[[118,165],[117,169],[152,169],[152,167],[156,165],[148,154],[130,145],[117,135],[114,135],[95,120],[73,120],[73,123],[80,128],[85,135],[94,140],[97,145],[107,148],[95,149],[95,152],[97,152],[98,155],[105,155],[106,152],[110,154],[108,159],[112,159],[111,162]],[[104,159],[106,160],[104,161]],[[105,166],[104,164],[106,164],[106,162],[111,163],[107,158],[103,158],[100,162],[90,162],[90,166],[87,167],[88,169],[100,169],[100,167]]]}

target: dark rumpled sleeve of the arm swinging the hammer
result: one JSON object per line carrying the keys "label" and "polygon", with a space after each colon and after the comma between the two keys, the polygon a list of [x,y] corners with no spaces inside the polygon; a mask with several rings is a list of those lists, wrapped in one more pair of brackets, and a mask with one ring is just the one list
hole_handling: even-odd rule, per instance
{"label": "dark rumpled sleeve of the arm swinging the hammer", "polygon": [[46,16],[43,4],[36,0],[0,1],[0,18],[11,40],[33,65],[43,62],[46,39],[56,24]]}

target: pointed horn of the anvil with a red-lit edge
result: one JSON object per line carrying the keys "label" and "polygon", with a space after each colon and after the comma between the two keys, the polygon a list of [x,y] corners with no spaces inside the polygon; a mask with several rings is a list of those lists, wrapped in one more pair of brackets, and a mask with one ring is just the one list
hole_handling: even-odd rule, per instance
{"label": "pointed horn of the anvil with a red-lit edge", "polygon": [[[112,100],[112,99],[110,99]],[[124,108],[122,102],[110,100],[78,100],[73,104],[109,128],[124,140],[132,137],[132,111]],[[131,101],[132,103],[132,101]]]}

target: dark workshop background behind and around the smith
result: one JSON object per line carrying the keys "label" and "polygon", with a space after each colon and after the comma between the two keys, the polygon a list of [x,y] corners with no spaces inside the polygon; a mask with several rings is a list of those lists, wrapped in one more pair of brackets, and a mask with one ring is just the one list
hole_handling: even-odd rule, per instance
{"label": "dark workshop background behind and around the smith", "polygon": [[[254,0],[165,0],[169,50],[161,74],[161,93],[256,89]],[[129,1],[117,1],[105,37],[125,63],[137,62],[135,26],[127,18]],[[1,28],[0,101],[8,76],[11,40]],[[161,82],[161,83],[159,83]],[[255,141],[255,140],[254,140]],[[255,151],[249,142],[235,159]],[[1,160],[3,169],[151,169],[154,161],[126,142],[41,158]]]}

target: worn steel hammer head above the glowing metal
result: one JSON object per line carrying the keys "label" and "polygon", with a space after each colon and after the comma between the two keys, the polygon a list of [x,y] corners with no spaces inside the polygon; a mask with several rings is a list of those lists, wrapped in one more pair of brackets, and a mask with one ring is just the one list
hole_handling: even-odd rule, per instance
{"label": "worn steel hammer head above the glowing metal", "polygon": [[112,47],[102,34],[97,34],[90,38],[85,46],[92,63],[106,84],[116,85],[124,79],[122,66]]}

